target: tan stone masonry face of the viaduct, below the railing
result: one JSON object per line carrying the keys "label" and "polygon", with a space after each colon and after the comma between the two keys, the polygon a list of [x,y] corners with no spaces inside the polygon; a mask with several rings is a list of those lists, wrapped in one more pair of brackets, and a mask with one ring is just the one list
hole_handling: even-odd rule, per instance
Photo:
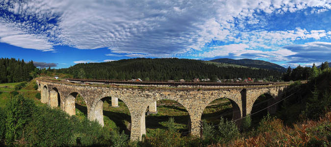
{"label": "tan stone masonry face of the viaduct, below the railing", "polygon": [[[71,85],[63,83],[53,83],[37,79],[41,87],[47,85],[47,89],[56,88],[60,96],[61,109],[75,114],[75,97],[73,94],[80,94],[87,105],[87,117],[89,120],[97,120],[103,126],[102,98],[115,97],[121,99],[128,107],[131,115],[131,140],[141,139],[141,135],[146,133],[145,113],[148,106],[161,99],[171,99],[182,104],[188,111],[191,122],[191,134],[200,134],[200,120],[204,108],[217,98],[229,98],[233,107],[240,110],[233,114],[234,118],[243,117],[243,112],[249,114],[257,97],[264,93],[270,93],[277,97],[283,88],[260,88],[260,89],[219,89],[219,90],[176,90],[176,89],[130,89],[130,88],[106,88],[92,87],[86,85]],[[45,95],[43,97],[43,95]],[[47,98],[47,94],[42,90],[42,99]],[[247,101],[246,101],[247,99]],[[244,101],[244,102],[242,102]],[[245,105],[246,104],[246,105]],[[100,106],[101,105],[101,106]],[[72,108],[74,107],[74,108]],[[244,108],[244,110],[243,110]],[[247,111],[246,111],[247,109]],[[246,115],[244,114],[244,115]]]}

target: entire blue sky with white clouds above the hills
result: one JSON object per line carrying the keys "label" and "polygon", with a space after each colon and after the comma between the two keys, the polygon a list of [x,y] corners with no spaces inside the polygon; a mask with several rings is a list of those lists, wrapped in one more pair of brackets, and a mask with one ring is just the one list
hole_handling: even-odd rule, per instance
{"label": "entire blue sky with white clouds above the hills", "polygon": [[331,0],[0,0],[0,57],[331,61]]}

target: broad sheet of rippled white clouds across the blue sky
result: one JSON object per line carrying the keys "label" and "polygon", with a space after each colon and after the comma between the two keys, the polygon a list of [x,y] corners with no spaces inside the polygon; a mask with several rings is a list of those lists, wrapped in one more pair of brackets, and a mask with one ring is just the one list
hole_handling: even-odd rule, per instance
{"label": "broad sheet of rippled white clouds across the blue sky", "polygon": [[[206,57],[227,53],[279,57],[277,53],[294,53],[278,47],[298,39],[330,38],[330,31],[240,29],[245,29],[245,23],[265,25],[254,12],[281,14],[307,7],[315,9],[312,13],[321,13],[329,11],[331,4],[328,0],[10,0],[1,9],[24,21],[13,23],[18,21],[10,14],[1,16],[0,41],[43,51],[53,50],[55,45],[109,48],[113,53],[107,56],[169,57],[201,50]],[[52,20],[56,24],[49,23]],[[212,40],[233,44],[203,50]]]}

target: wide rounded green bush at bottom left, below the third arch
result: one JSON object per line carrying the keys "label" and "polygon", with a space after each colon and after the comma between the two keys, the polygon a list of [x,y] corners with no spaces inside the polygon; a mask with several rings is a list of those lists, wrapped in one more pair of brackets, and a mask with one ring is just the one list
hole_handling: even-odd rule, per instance
{"label": "wide rounded green bush at bottom left, below the third arch", "polygon": [[38,107],[32,115],[33,121],[26,127],[26,140],[31,146],[69,145],[74,128],[69,115],[47,106]]}

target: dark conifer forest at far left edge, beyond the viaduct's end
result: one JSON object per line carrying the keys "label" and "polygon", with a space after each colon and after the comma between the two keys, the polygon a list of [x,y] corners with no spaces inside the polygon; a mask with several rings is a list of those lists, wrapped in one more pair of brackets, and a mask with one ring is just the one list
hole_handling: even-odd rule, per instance
{"label": "dark conifer forest at far left edge, beyond the viaduct's end", "polygon": [[0,83],[29,81],[32,79],[30,73],[35,69],[32,61],[0,58]]}

